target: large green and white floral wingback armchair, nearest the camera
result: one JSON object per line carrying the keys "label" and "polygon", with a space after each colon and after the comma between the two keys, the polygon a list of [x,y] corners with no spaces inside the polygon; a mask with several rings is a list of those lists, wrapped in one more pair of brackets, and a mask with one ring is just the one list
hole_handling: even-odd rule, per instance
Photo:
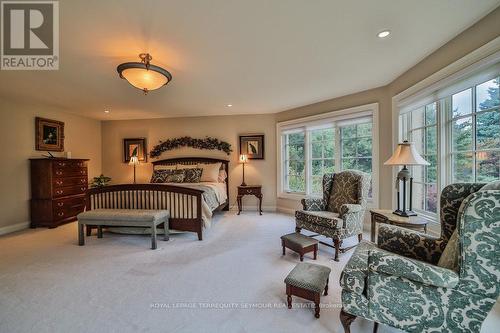
{"label": "large green and white floral wingback armchair, nearest the camera", "polygon": [[443,190],[439,238],[383,225],[378,246],[357,247],[340,278],[346,332],[356,316],[407,332],[480,331],[500,292],[500,190],[483,185]]}

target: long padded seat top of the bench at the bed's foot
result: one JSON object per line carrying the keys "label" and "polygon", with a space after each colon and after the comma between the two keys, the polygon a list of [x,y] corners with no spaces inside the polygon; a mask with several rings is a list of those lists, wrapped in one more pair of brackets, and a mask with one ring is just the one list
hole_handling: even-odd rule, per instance
{"label": "long padded seat top of the bench at the bed's foot", "polygon": [[138,221],[153,222],[169,217],[168,210],[145,209],[94,209],[78,214],[80,222],[85,221]]}

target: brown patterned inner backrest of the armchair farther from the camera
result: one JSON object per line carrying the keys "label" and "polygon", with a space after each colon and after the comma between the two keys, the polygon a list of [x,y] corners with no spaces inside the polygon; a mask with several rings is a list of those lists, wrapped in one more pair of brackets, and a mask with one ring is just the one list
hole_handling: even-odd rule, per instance
{"label": "brown patterned inner backrest of the armchair farther from the camera", "polygon": [[327,210],[340,213],[340,207],[343,204],[358,204],[362,178],[362,174],[350,170],[335,173]]}

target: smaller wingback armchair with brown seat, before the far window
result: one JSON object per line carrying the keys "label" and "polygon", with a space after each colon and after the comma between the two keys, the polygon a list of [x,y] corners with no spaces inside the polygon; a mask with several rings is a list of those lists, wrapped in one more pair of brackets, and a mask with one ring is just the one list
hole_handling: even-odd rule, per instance
{"label": "smaller wingback armchair with brown seat, before the far window", "polygon": [[[339,261],[343,239],[363,235],[363,218],[370,188],[370,176],[345,170],[323,176],[323,198],[302,199],[303,210],[295,212],[297,232],[302,229],[331,237],[335,261]],[[331,245],[330,245],[331,246]]]}

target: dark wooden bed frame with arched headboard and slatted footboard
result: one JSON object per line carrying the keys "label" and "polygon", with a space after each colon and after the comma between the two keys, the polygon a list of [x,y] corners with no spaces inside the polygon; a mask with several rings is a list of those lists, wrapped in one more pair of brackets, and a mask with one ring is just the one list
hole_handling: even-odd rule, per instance
{"label": "dark wooden bed frame with arched headboard and slatted footboard", "polygon": [[[229,161],[207,157],[169,158],[153,162],[153,170],[160,165],[193,165],[222,163],[228,172]],[[214,211],[229,210],[229,176],[226,178],[227,200]],[[202,190],[164,184],[121,184],[89,189],[86,193],[86,210],[91,209],[168,209],[169,228],[191,231],[203,239]],[[182,199],[182,200],[181,200]],[[193,209],[187,208],[196,205]],[[87,236],[95,227],[87,226]]]}

